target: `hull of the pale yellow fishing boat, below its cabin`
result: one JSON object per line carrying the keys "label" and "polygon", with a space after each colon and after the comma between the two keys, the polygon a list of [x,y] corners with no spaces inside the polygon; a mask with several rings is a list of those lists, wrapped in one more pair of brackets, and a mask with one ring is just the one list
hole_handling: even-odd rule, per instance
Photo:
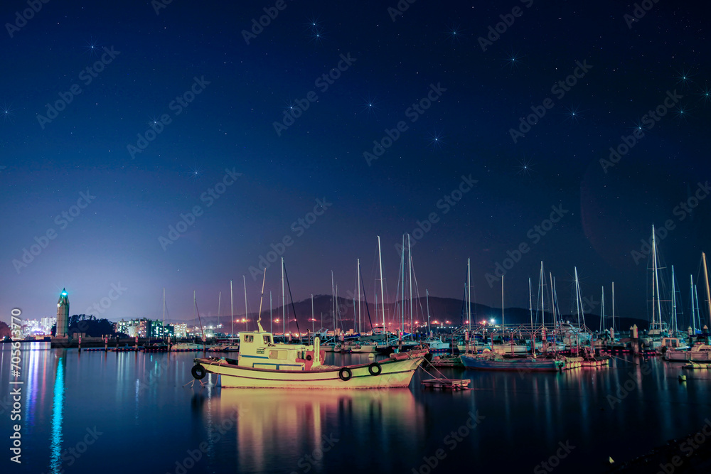
{"label": "hull of the pale yellow fishing boat, below its cabin", "polygon": [[[381,389],[408,387],[415,370],[424,361],[424,353],[398,355],[377,362],[380,374],[371,374],[375,364],[328,366],[321,370],[273,370],[228,364],[224,359],[196,359],[209,373],[220,375],[223,388],[262,389]],[[405,356],[405,357],[402,357]],[[348,372],[351,376],[347,377]],[[344,373],[345,372],[345,373]],[[373,370],[377,372],[377,370]],[[345,377],[344,377],[345,375]],[[347,379],[344,379],[347,378]]]}

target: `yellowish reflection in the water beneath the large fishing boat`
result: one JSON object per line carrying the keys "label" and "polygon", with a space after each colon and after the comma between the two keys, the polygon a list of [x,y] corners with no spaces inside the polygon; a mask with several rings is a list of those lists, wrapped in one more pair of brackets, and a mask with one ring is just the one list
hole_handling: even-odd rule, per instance
{"label": "yellowish reflection in the water beneath the large fishing boat", "polygon": [[203,404],[209,423],[217,423],[210,414],[214,409],[221,424],[230,419],[236,426],[237,472],[269,471],[275,449],[294,468],[314,453],[309,465],[321,470],[323,451],[345,436],[343,426],[349,438],[385,453],[393,437],[400,445],[416,446],[424,436],[422,410],[410,389],[223,389],[213,402],[216,406]]}

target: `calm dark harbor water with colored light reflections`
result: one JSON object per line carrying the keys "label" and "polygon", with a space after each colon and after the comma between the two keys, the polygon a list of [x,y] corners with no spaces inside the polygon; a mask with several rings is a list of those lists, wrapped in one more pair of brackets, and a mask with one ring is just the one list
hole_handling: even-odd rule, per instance
{"label": "calm dark harbor water with colored light reflections", "polygon": [[[223,390],[212,375],[190,387],[201,352],[26,344],[17,465],[8,450],[17,423],[7,406],[9,349],[0,352],[3,473],[427,474],[428,461],[432,472],[523,473],[565,452],[561,443],[570,453],[556,472],[597,473],[609,456],[634,458],[711,417],[711,371],[685,371],[688,382],[678,382],[680,365],[658,359],[560,374],[443,370],[471,379],[473,389],[455,393],[423,391],[422,370],[410,389]],[[366,361],[331,354],[326,362]]]}

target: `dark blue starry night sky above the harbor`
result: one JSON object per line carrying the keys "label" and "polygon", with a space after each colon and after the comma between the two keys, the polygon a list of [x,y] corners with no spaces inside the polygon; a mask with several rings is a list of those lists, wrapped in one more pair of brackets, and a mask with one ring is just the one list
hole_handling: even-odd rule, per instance
{"label": "dark blue starry night sky above the harbor", "polygon": [[471,258],[476,302],[501,304],[508,264],[528,307],[542,260],[563,311],[577,266],[589,301],[615,281],[646,317],[634,252],[665,221],[688,313],[711,249],[702,2],[36,4],[0,7],[4,321],[54,316],[65,287],[112,321],[158,318],[163,288],[171,319],[193,290],[229,314],[230,279],[242,313],[242,275],[257,311],[250,267],[281,242],[294,299],[332,270],[346,296],[360,258],[372,303],[378,235],[394,301],[405,232],[421,296],[461,298]]}

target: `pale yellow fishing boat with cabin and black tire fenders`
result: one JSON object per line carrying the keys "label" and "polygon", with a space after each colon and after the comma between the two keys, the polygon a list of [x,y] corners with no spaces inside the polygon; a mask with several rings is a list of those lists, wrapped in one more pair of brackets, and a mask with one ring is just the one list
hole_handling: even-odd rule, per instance
{"label": "pale yellow fishing boat with cabin and black tire fenders", "polygon": [[325,351],[318,337],[314,345],[274,344],[272,333],[262,329],[240,334],[237,360],[225,357],[195,359],[191,370],[200,380],[206,374],[220,375],[222,387],[370,389],[408,387],[427,351],[392,354],[387,360],[366,364],[323,365]]}

